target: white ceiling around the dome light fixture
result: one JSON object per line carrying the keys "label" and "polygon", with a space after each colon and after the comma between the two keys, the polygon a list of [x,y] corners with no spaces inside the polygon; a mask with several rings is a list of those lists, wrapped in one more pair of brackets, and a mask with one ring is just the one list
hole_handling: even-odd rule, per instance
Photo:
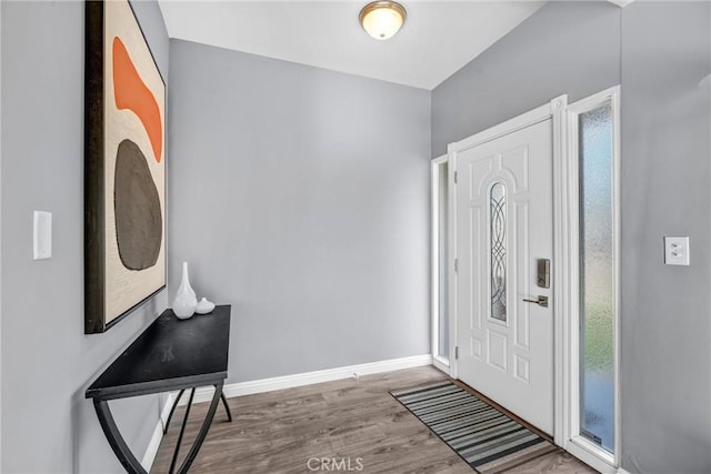
{"label": "white ceiling around the dome light fixture", "polygon": [[377,41],[363,1],[159,0],[171,38],[433,89],[545,1],[401,0],[402,30]]}

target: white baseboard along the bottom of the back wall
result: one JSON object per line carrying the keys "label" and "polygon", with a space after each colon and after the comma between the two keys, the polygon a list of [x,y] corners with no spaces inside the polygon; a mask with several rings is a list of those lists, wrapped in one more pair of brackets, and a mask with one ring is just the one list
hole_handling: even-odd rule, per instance
{"label": "white baseboard along the bottom of the back wall", "polygon": [[[378,374],[381,372],[400,371],[403,369],[432,365],[432,355],[414,355],[411,357],[391,359],[388,361],[371,362],[368,364],[348,365],[344,367],[327,369],[323,371],[306,372],[302,374],[284,375],[272,379],[261,379],[250,382],[227,384],[222,387],[224,396],[252,395],[254,393],[272,392],[274,390],[293,389],[314,383],[332,382],[361,375]],[[196,391],[193,403],[209,402],[212,400],[214,389],[200,387]],[[180,405],[188,403],[187,397],[180,401]]]}

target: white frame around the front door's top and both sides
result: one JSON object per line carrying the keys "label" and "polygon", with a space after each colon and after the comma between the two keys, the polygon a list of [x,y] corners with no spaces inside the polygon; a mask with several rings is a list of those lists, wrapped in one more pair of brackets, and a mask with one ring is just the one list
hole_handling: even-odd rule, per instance
{"label": "white frame around the front door's top and both sides", "polygon": [[[569,401],[565,397],[567,381],[565,374],[570,373],[569,363],[565,361],[568,347],[565,346],[569,333],[568,321],[564,315],[570,310],[570,295],[572,294],[570,282],[570,263],[572,259],[570,242],[570,179],[569,167],[565,160],[565,108],[568,95],[563,94],[549,103],[541,105],[530,112],[518,115],[503,123],[494,125],[488,130],[479,132],[472,137],[450,143],[447,147],[449,157],[449,250],[450,250],[450,375],[458,377],[458,361],[455,357],[457,344],[457,272],[454,271],[454,259],[457,259],[457,168],[458,153],[489,142],[497,138],[507,135],[535,123],[552,119],[553,125],[553,262],[552,262],[552,294],[553,294],[553,380],[554,380],[554,409],[553,409],[553,438],[557,445],[563,446],[567,433],[564,426]],[[574,203],[577,205],[577,203]]]}

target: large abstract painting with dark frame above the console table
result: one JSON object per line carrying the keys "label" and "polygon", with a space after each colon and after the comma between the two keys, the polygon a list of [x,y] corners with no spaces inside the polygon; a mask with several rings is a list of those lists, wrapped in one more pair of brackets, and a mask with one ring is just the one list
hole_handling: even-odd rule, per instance
{"label": "large abstract painting with dark frame above the console table", "polygon": [[86,2],[84,333],[166,286],[166,84],[127,0]]}

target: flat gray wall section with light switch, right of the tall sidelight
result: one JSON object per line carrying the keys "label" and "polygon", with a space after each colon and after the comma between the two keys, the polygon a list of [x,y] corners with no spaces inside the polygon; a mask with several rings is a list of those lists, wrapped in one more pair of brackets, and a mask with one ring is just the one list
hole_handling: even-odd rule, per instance
{"label": "flat gray wall section with light switch, right of the tall sidelight", "polygon": [[[711,472],[711,3],[622,11],[622,464]],[[662,236],[691,238],[665,266]]]}

